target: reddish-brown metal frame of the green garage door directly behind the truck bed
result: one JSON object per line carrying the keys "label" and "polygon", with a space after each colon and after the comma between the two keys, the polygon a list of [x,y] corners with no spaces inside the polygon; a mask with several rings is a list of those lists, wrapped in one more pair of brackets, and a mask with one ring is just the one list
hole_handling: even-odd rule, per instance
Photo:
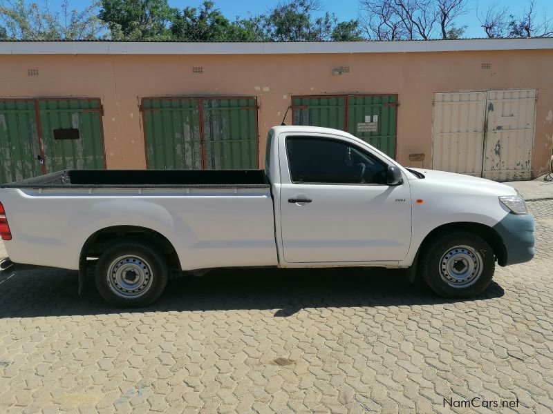
{"label": "reddish-brown metal frame of the green garage door directly behind the truck bed", "polygon": [[257,102],[256,96],[229,96],[229,95],[182,95],[182,96],[169,96],[169,97],[140,97],[138,104],[138,110],[142,113],[142,137],[144,138],[144,157],[146,157],[146,169],[148,169],[148,139],[146,137],[146,112],[154,112],[162,108],[144,108],[144,101],[147,100],[159,100],[159,101],[198,101],[198,134],[200,135],[200,157],[202,170],[205,170],[205,135],[203,128],[203,101],[208,101],[212,99],[253,99],[255,104],[254,106],[242,106],[239,109],[254,109],[255,116],[255,133],[256,133],[256,165],[259,168],[259,103]]}

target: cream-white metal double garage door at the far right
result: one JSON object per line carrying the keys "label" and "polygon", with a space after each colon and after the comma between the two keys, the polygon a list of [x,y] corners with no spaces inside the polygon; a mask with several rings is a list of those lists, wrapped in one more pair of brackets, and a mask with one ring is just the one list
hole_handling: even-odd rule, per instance
{"label": "cream-white metal double garage door at the far right", "polygon": [[432,168],[531,178],[535,104],[535,89],[436,93]]}

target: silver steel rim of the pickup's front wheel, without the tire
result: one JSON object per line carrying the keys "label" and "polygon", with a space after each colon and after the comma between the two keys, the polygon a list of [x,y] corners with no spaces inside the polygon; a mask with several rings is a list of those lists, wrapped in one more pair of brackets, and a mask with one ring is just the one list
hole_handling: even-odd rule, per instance
{"label": "silver steel rim of the pickup's front wheel, without the tire", "polygon": [[482,256],[469,246],[455,246],[440,259],[440,276],[453,288],[466,288],[482,275]]}

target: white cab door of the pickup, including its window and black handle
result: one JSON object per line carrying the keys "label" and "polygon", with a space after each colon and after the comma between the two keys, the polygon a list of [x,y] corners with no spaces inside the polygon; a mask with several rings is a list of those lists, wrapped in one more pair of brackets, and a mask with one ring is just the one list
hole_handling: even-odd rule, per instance
{"label": "white cab door of the pickup, including its window and black handle", "polygon": [[388,186],[386,162],[353,139],[288,135],[279,152],[285,262],[404,259],[411,242],[406,179]]}

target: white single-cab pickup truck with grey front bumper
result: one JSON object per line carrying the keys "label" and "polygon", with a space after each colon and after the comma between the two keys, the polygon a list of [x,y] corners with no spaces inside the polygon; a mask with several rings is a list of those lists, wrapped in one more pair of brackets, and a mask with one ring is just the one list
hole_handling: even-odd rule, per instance
{"label": "white single-cab pickup truck with grey front bumper", "polygon": [[327,128],[272,128],[265,170],[65,170],[4,184],[0,202],[5,271],[79,270],[79,291],[93,272],[115,306],[153,302],[170,273],[232,266],[406,268],[470,297],[496,261],[534,256],[513,188],[404,168]]}

